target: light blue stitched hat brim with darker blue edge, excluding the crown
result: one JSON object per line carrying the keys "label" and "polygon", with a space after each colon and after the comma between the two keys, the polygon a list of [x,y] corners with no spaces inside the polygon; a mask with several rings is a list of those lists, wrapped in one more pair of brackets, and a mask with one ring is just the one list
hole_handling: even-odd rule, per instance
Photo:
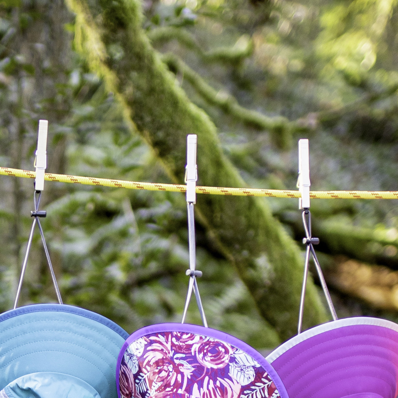
{"label": "light blue stitched hat brim with darker blue edge, excluding the crown", "polygon": [[116,398],[117,356],[129,335],[111,320],[66,304],[34,304],[0,315],[0,389],[36,372],[84,380]]}

